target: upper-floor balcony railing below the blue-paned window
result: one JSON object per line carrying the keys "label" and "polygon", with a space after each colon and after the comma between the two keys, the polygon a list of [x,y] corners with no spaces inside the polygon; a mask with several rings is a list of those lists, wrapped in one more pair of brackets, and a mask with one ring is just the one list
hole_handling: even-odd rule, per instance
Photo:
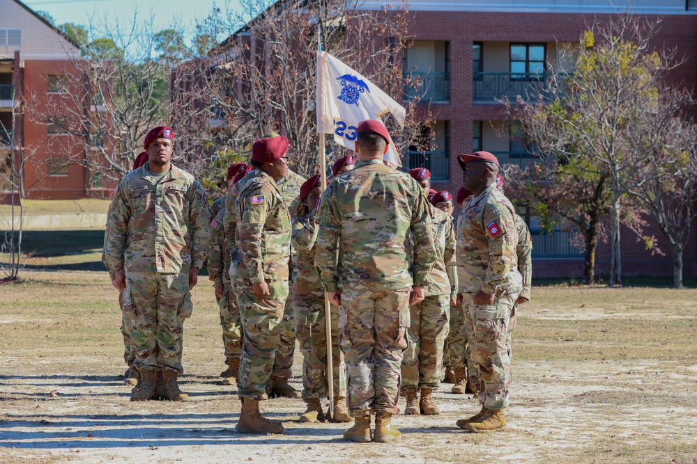
{"label": "upper-floor balcony railing below the blue-paned window", "polygon": [[[515,101],[517,95],[527,97],[528,94],[540,93],[545,79],[550,74],[521,74],[512,72],[475,72],[474,73],[474,101],[493,102],[494,99],[508,98]],[[550,100],[551,94],[542,93],[542,99]],[[536,98],[536,97],[535,97]]]}

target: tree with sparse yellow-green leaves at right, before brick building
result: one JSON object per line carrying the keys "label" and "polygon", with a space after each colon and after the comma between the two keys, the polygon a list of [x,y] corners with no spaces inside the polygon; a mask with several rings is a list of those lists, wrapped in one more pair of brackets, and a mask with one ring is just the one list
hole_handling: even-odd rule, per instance
{"label": "tree with sparse yellow-green leaves at right, before brick building", "polygon": [[629,192],[661,176],[650,153],[636,150],[631,140],[633,127],[651,134],[657,130],[641,124],[639,109],[666,90],[659,86],[661,79],[681,63],[673,51],[652,50],[658,24],[632,15],[594,24],[583,33],[580,47],[567,50],[577,55],[572,74],[550,63],[537,93],[509,105],[544,154],[608,182],[611,286],[622,285],[622,218],[638,217],[625,214],[623,202]]}

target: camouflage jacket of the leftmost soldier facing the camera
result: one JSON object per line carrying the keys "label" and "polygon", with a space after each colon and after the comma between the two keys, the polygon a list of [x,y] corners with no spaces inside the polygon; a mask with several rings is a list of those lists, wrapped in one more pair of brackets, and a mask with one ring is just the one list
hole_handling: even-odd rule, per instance
{"label": "camouflage jacket of the leftmost soldier facing the camera", "polygon": [[200,269],[210,236],[203,187],[174,165],[155,184],[148,166],[131,171],[118,184],[104,250],[107,267],[163,273]]}

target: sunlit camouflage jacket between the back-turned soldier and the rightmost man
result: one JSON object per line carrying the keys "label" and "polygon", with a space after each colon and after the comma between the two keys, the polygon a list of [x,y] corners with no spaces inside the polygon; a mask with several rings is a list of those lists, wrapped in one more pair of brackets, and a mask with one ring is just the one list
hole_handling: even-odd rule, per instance
{"label": "sunlit camouflage jacket between the back-turned soldier and the rightmost man", "polygon": [[425,296],[457,296],[457,263],[455,262],[455,232],[452,218],[440,209],[431,209],[431,230],[436,246],[436,264],[427,280]]}

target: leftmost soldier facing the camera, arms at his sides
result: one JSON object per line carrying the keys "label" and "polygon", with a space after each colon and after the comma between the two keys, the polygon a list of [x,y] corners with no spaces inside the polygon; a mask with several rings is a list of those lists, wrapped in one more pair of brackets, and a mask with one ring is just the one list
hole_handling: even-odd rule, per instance
{"label": "leftmost soldier facing the camera, arms at his sides", "polygon": [[142,384],[132,401],[158,393],[172,401],[188,399],[177,384],[183,323],[193,310],[190,289],[208,254],[210,232],[204,190],[171,163],[173,143],[169,127],[148,133],[148,162],[118,184],[107,230],[107,266],[133,320],[131,346]]}

